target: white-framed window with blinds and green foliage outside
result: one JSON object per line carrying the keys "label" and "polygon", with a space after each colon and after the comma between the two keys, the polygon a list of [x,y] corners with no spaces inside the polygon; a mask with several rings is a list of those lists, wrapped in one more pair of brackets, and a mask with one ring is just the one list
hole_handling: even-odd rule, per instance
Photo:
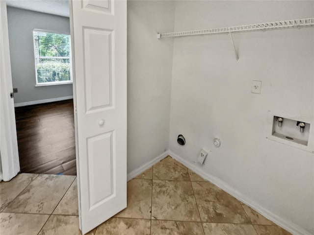
{"label": "white-framed window with blinds and green foliage outside", "polygon": [[36,85],[72,82],[70,35],[33,31]]}

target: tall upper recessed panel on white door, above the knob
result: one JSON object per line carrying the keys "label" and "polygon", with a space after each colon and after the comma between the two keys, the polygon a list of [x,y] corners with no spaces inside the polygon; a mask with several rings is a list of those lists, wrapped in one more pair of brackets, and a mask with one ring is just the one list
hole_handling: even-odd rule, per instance
{"label": "tall upper recessed panel on white door, above the knob", "polygon": [[86,113],[114,108],[114,30],[83,27],[83,35]]}

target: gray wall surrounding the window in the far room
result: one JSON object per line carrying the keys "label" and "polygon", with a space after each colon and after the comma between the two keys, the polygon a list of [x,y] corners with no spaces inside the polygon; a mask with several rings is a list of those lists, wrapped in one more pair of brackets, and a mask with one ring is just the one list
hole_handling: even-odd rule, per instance
{"label": "gray wall surrounding the window in the far room", "polygon": [[69,18],[7,7],[14,103],[73,95],[72,84],[35,87],[32,31],[46,29],[70,33]]}

